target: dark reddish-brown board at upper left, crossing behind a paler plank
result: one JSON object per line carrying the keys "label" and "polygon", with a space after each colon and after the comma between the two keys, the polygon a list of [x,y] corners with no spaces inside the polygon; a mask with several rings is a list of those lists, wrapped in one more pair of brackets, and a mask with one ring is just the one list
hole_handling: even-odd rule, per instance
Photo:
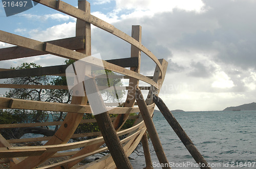
{"label": "dark reddish-brown board at upper left, crossing behind a paler plank", "polygon": [[[75,49],[82,49],[84,47],[84,43],[83,43],[84,41],[85,41],[85,38],[80,36],[80,37],[58,39],[58,40],[47,41],[47,42],[57,46],[75,50]],[[32,49],[24,48],[20,46],[2,48],[0,49],[0,53],[1,53],[0,61],[47,54],[47,52],[45,51],[37,51],[37,50],[32,50]]]}

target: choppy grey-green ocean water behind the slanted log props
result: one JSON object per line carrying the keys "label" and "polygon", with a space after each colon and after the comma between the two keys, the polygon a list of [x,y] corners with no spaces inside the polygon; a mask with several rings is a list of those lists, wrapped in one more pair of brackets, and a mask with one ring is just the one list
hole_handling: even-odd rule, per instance
{"label": "choppy grey-green ocean water behind the slanted log props", "polygon": [[[180,123],[211,168],[256,168],[256,111],[175,112]],[[199,168],[161,113],[153,117],[172,168]],[[161,168],[150,142],[154,168]],[[142,147],[139,151],[143,152]],[[141,153],[139,153],[141,154]],[[145,167],[144,156],[133,153],[134,168]]]}

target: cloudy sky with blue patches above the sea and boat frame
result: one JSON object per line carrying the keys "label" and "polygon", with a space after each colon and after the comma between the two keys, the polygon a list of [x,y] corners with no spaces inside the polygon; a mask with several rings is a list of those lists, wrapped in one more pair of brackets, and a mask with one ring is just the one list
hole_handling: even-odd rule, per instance
{"label": "cloudy sky with blue patches above the sea and boat frame", "polygon": [[[77,7],[76,1],[64,1]],[[93,15],[126,34],[142,26],[142,44],[168,62],[160,97],[169,109],[222,110],[255,102],[256,1],[252,0],[95,0]],[[6,17],[0,7],[0,29],[47,41],[75,36],[76,19],[42,5]],[[96,27],[92,54],[103,59],[130,57],[126,42]],[[0,42],[0,47],[9,44]],[[1,55],[1,53],[0,53]],[[1,61],[1,68],[35,62],[63,64],[44,55]],[[142,54],[141,73],[152,75],[155,64]]]}

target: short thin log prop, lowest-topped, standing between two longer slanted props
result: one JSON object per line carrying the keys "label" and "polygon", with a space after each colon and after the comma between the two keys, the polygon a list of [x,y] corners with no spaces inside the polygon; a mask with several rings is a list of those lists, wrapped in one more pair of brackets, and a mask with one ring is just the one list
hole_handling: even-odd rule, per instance
{"label": "short thin log prop, lowest-topped, standing between two longer slanted props", "polygon": [[145,161],[146,161],[146,167],[143,169],[154,169],[152,160],[151,160],[151,156],[150,156],[150,148],[148,147],[148,140],[147,140],[146,132],[142,136],[141,143],[142,143],[144,157],[145,157]]}

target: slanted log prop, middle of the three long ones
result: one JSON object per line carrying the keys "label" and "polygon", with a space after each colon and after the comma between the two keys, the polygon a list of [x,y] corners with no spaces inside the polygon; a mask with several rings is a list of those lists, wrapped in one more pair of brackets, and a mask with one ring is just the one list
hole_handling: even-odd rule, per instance
{"label": "slanted log prop, middle of the three long ones", "polygon": [[156,127],[153,123],[152,117],[150,116],[150,112],[147,109],[146,102],[145,102],[143,95],[139,88],[137,88],[137,91],[136,91],[136,101],[138,103],[138,106],[139,106],[139,109],[141,112],[141,116],[146,125],[148,134],[150,134],[150,138],[151,138],[152,144],[154,146],[157,158],[158,158],[159,162],[163,165],[162,168],[166,168],[166,169],[170,168],[168,165],[169,162],[164,154],[162,144],[161,144],[159,136],[157,134]]}

